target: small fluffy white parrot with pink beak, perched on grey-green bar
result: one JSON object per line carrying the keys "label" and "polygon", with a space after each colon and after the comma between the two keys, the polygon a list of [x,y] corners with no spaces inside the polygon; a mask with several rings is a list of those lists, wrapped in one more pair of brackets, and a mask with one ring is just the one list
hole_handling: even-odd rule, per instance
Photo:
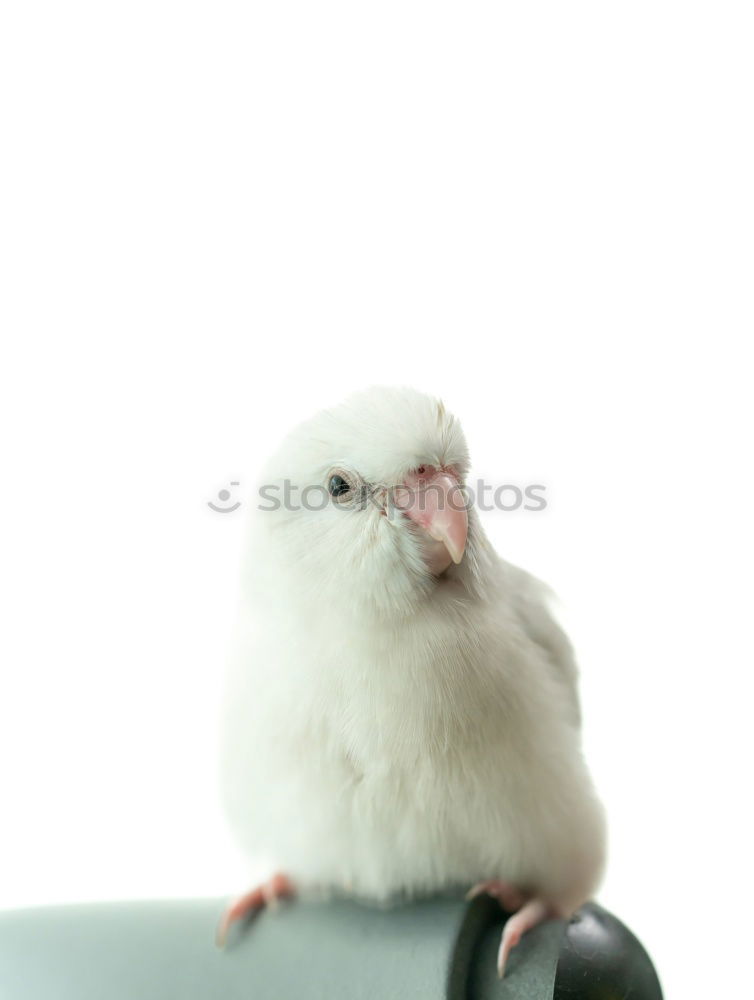
{"label": "small fluffy white parrot with pink beak, perched on grey-green bar", "polygon": [[241,847],[280,871],[220,939],[294,891],[471,886],[515,911],[502,975],[526,930],[594,892],[605,828],[571,646],[549,591],[465,509],[468,467],[441,402],[387,388],[318,414],[271,461],[222,768]]}

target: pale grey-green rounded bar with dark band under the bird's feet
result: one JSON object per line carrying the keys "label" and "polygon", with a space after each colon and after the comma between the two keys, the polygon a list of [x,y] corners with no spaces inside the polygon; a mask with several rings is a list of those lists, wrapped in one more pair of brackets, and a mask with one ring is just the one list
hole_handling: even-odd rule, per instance
{"label": "pale grey-green rounded bar with dark band under the bird's feet", "polygon": [[219,900],[0,913],[2,1000],[543,1000],[564,924],[526,935],[495,972],[504,915],[490,899],[391,909],[292,901],[230,935]]}

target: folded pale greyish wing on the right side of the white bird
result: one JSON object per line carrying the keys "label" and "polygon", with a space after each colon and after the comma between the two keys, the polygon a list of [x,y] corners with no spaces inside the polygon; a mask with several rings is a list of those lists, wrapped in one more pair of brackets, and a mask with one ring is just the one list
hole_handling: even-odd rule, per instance
{"label": "folded pale greyish wing on the right side of the white bird", "polygon": [[550,588],[519,567],[511,567],[513,605],[525,634],[545,653],[568,699],[571,718],[581,723],[578,694],[578,667],[568,636],[550,610],[554,595]]}

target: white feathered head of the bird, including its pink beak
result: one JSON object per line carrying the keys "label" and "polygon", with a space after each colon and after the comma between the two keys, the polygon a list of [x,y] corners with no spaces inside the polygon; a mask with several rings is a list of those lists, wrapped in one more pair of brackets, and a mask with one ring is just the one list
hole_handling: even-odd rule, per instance
{"label": "white feathered head of the bird, including its pink beak", "polygon": [[267,574],[329,608],[410,614],[474,586],[483,536],[468,450],[443,404],[368,389],[298,427],[268,466]]}

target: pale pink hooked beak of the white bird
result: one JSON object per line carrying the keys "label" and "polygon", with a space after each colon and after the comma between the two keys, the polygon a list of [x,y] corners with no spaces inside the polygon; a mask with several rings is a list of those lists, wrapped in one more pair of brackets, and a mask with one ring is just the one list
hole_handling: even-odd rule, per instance
{"label": "pale pink hooked beak of the white bird", "polygon": [[[469,533],[466,498],[457,477],[446,469],[422,466],[396,491],[396,506],[430,538],[441,542],[456,565],[463,558]],[[446,566],[447,566],[446,562]]]}

